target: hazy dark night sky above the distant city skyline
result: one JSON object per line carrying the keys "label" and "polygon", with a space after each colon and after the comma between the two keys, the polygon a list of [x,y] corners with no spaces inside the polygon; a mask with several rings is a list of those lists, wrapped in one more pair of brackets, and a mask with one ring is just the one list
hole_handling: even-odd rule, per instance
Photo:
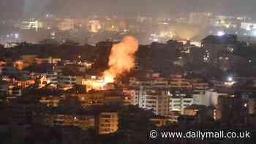
{"label": "hazy dark night sky above the distant city skyline", "polygon": [[0,0],[0,18],[91,13],[167,15],[170,12],[213,11],[256,15],[256,0]]}

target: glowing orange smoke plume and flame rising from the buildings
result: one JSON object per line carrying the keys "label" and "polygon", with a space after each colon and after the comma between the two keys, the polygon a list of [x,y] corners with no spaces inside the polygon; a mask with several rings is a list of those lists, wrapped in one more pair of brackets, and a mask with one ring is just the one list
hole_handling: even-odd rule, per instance
{"label": "glowing orange smoke plume and flame rising from the buildings", "polygon": [[126,36],[113,45],[108,61],[109,69],[103,72],[105,83],[113,83],[118,75],[135,67],[134,55],[137,50],[138,40],[132,36]]}

